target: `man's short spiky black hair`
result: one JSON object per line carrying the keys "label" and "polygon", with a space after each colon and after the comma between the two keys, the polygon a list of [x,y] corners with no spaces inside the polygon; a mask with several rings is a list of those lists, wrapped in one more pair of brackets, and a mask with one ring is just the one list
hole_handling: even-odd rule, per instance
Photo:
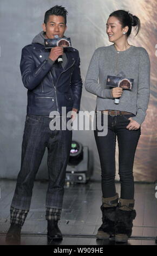
{"label": "man's short spiky black hair", "polygon": [[67,14],[68,11],[64,7],[62,7],[62,5],[55,5],[54,7],[50,8],[48,11],[45,12],[44,23],[47,24],[50,15],[56,15],[63,16],[65,24],[67,24]]}

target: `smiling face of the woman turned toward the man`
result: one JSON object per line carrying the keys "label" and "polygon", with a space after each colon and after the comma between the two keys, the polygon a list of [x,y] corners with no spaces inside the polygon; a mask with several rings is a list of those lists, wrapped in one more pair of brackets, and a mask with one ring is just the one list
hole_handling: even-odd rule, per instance
{"label": "smiling face of the woman turned toward the man", "polygon": [[106,33],[108,34],[108,39],[110,42],[121,40],[123,36],[126,36],[123,34],[123,32],[127,31],[128,27],[122,28],[120,21],[116,17],[111,16],[108,18],[106,24]]}

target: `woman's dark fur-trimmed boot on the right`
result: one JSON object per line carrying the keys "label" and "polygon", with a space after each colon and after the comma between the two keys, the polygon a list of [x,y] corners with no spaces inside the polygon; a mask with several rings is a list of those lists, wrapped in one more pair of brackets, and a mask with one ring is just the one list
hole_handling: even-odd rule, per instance
{"label": "woman's dark fur-trimmed boot on the right", "polygon": [[133,220],[136,217],[134,199],[120,198],[115,216],[115,241],[127,242],[132,235]]}

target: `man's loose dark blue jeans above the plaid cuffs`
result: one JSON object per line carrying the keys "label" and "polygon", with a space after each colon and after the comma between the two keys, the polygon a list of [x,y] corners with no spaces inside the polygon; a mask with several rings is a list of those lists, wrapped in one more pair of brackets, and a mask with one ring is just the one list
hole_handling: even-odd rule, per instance
{"label": "man's loose dark blue jeans above the plaid cuffs", "polygon": [[[61,118],[61,117],[59,117]],[[29,210],[35,176],[45,148],[48,148],[49,185],[46,208],[62,209],[66,167],[71,149],[72,131],[50,130],[52,119],[41,115],[27,115],[22,142],[21,170],[11,207]],[[66,119],[68,121],[69,118]]]}

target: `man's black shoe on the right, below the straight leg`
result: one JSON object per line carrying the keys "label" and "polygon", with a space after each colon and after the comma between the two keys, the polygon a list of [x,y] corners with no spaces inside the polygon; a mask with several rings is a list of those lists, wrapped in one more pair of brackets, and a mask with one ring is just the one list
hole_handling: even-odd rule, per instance
{"label": "man's black shoe on the right, below the straight leg", "polygon": [[61,230],[58,228],[58,221],[48,221],[48,239],[63,239]]}

